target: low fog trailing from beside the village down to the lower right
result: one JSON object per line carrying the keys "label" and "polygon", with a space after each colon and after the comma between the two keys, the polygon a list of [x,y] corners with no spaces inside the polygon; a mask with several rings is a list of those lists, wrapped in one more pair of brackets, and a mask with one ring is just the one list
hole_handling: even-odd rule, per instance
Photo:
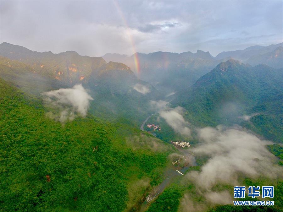
{"label": "low fog trailing from beside the village down to the lower right", "polygon": [[[183,108],[170,108],[166,106],[167,103],[152,101],[150,104],[157,108],[160,117],[164,118],[176,133],[191,136],[192,130],[196,132],[196,139],[199,143],[188,151],[192,151],[194,155],[209,156],[200,172],[190,171],[185,175],[185,181],[194,182],[197,192],[203,195],[208,202],[231,204],[232,191],[215,192],[212,191],[212,188],[221,183],[232,186],[240,185],[238,182],[240,175],[271,179],[283,177],[283,168],[276,164],[275,155],[266,148],[267,144],[272,144],[271,141],[259,139],[240,126],[193,127],[183,118]],[[191,197],[186,194],[181,204],[184,206],[188,199]],[[201,210],[200,205],[196,206],[198,208],[193,208],[194,205],[191,203],[187,207],[192,210]]]}

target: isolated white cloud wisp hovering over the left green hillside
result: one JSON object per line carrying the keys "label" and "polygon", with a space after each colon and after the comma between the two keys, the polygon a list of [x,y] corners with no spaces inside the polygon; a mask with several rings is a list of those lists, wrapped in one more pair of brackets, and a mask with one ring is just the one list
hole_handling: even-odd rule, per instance
{"label": "isolated white cloud wisp hovering over the left green hillside", "polygon": [[51,90],[42,95],[45,105],[53,109],[47,115],[62,123],[68,119],[72,121],[77,113],[85,117],[89,101],[93,100],[81,84],[76,84],[73,88]]}

